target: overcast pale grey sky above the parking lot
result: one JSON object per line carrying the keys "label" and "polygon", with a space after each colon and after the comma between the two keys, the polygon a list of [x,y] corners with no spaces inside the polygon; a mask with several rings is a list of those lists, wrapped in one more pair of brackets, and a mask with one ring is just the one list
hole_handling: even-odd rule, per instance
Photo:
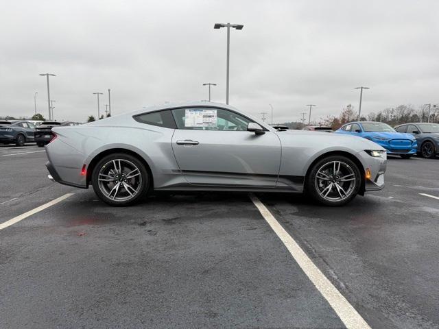
{"label": "overcast pale grey sky above the parking lot", "polygon": [[[111,88],[112,114],[165,101],[225,102],[230,32],[230,105],[274,121],[358,108],[439,102],[438,1],[3,1],[0,116],[96,116],[95,92]],[[270,114],[268,114],[270,117]],[[270,120],[270,119],[269,119]]]}

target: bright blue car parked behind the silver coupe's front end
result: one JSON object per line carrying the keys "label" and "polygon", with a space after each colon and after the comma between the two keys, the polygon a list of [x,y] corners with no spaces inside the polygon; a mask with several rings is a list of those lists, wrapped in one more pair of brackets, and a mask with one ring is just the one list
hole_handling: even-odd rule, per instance
{"label": "bright blue car parked behind the silver coupe's front end", "polygon": [[369,139],[384,147],[387,154],[408,159],[416,154],[418,144],[411,134],[396,132],[390,125],[375,121],[357,121],[342,125],[337,134],[349,134]]}

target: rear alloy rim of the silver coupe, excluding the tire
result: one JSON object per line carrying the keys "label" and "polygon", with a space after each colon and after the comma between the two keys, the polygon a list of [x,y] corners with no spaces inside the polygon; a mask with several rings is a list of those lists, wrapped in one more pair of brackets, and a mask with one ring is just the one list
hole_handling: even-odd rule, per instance
{"label": "rear alloy rim of the silver coupe, excluding the tire", "polygon": [[126,202],[141,191],[142,175],[139,168],[126,159],[114,159],[106,162],[97,176],[99,190],[108,199]]}

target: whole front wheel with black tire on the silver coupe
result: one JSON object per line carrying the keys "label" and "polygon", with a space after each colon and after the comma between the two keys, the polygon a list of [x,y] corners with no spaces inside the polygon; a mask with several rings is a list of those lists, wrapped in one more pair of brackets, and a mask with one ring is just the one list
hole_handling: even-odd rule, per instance
{"label": "whole front wheel with black tire on the silver coupe", "polygon": [[[341,171],[340,166],[338,166],[335,170],[335,175],[333,174],[334,171],[329,168],[332,166],[333,162],[335,162],[336,167],[337,162],[341,162],[341,164],[343,164],[343,170]],[[328,167],[327,171],[320,171],[319,177],[316,178],[319,170],[323,170],[322,168],[325,166]],[[346,175],[346,173],[349,174]],[[347,176],[348,178],[345,178]],[[344,178],[345,180],[342,181],[340,178]],[[349,182],[346,181],[347,179],[349,179]],[[337,183],[338,187],[335,186],[335,183]],[[332,187],[329,186],[331,184]],[[346,156],[328,156],[318,160],[318,162],[313,164],[313,167],[309,171],[309,175],[307,175],[305,182],[305,191],[307,194],[318,203],[327,206],[343,206],[344,204],[351,202],[352,199],[358,194],[360,187],[361,171],[359,170],[357,164],[355,164],[355,162],[353,162],[351,159],[346,158]],[[327,188],[329,188],[329,190],[327,190]],[[346,191],[345,193],[342,193],[339,188],[342,188],[342,191],[345,191],[344,188],[346,188],[348,193],[346,193]],[[322,195],[322,191],[320,190],[326,191],[329,194],[324,192],[326,195]],[[339,199],[337,199],[337,197]]]}

